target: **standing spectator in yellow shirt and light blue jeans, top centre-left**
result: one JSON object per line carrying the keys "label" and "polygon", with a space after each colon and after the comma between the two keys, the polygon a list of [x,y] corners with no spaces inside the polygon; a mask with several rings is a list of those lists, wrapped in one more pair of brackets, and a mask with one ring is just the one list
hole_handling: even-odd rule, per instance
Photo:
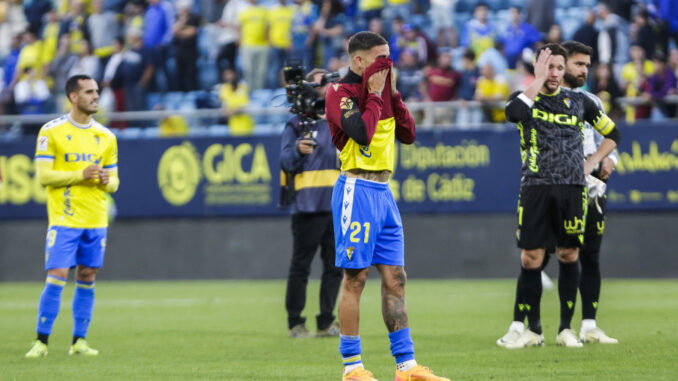
{"label": "standing spectator in yellow shirt and light blue jeans, top centre-left", "polygon": [[263,89],[268,69],[268,16],[258,0],[240,13],[240,63],[252,90]]}

